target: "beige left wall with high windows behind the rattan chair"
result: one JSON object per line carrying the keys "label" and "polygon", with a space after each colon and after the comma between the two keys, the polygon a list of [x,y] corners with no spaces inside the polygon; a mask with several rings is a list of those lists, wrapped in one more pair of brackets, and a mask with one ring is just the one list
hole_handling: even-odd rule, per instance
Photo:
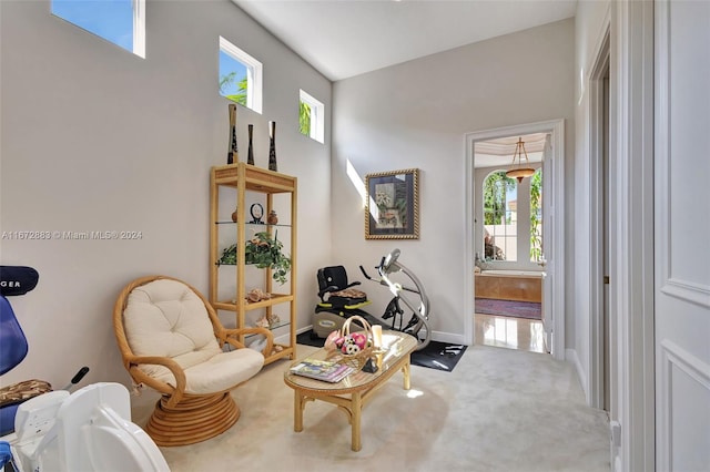
{"label": "beige left wall with high windows behind the rattan chair", "polygon": [[332,84],[227,0],[149,1],[146,59],[50,13],[49,1],[0,2],[0,230],[136,230],[138,240],[3,239],[0,261],[40,273],[10,301],[29,339],[2,384],[128,381],[111,315],[135,277],[166,274],[207,290],[209,172],[226,164],[227,102],[219,37],[264,64],[263,115],[239,107],[243,160],[256,165],[277,123],[278,168],[298,177],[298,325],[311,322],[315,271],[331,253],[329,143],[297,131],[298,89],[326,105]]}

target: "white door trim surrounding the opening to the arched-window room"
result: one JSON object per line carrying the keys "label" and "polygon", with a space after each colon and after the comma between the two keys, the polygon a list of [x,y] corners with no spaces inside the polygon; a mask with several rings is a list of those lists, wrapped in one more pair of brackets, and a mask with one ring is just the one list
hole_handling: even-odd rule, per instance
{"label": "white door trim surrounding the opening to the arched-window room", "polygon": [[[495,140],[511,135],[523,135],[532,133],[550,133],[552,145],[552,160],[555,167],[552,176],[545,182],[545,191],[551,187],[552,205],[556,208],[555,223],[552,224],[552,261],[555,264],[555,275],[552,280],[552,346],[551,355],[555,359],[565,359],[565,120],[550,120],[538,123],[528,123],[498,127],[494,130],[477,131],[467,133],[465,136],[465,179],[466,179],[466,202],[464,205],[466,220],[466,244],[465,244],[465,274],[464,281],[464,337],[471,345],[474,343],[474,208],[476,203],[476,186],[474,181],[474,144],[479,141]],[[545,178],[545,177],[544,177]],[[547,252],[546,252],[547,253]]]}

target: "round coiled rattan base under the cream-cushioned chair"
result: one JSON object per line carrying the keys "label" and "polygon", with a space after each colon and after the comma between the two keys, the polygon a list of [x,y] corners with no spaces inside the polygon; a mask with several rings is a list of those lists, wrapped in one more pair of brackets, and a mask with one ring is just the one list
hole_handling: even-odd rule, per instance
{"label": "round coiled rattan base under the cream-cushioned chair", "polygon": [[186,445],[205,441],[230,429],[240,418],[240,409],[230,392],[187,397],[168,407],[169,397],[155,403],[145,432],[158,445]]}

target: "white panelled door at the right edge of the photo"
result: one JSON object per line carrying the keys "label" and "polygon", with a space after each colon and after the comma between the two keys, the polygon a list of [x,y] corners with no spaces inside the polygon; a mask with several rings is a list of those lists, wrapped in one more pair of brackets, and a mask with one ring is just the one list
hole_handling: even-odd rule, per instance
{"label": "white panelled door at the right edge of the photo", "polygon": [[656,469],[710,468],[710,2],[657,1]]}

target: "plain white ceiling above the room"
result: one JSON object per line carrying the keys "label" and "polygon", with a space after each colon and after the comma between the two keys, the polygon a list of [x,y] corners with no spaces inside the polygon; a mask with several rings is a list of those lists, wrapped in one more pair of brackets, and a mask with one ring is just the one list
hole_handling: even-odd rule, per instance
{"label": "plain white ceiling above the room", "polygon": [[577,0],[232,0],[332,81],[575,16]]}

